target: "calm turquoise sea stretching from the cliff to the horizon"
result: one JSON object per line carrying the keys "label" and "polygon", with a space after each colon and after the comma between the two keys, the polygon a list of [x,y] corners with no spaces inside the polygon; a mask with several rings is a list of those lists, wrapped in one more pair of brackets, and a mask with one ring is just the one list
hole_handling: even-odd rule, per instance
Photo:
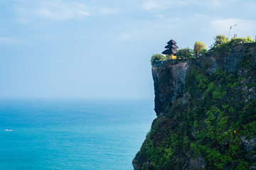
{"label": "calm turquoise sea stretching from the cliff to the horizon", "polygon": [[133,169],[153,108],[152,101],[0,100],[0,169]]}

